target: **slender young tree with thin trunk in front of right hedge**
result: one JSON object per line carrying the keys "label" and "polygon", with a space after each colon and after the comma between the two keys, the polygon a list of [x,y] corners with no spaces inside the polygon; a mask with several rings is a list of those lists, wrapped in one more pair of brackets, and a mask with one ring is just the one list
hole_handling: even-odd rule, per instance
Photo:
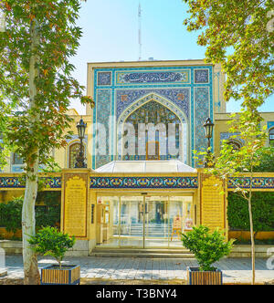
{"label": "slender young tree with thin trunk in front of right hedge", "polygon": [[[237,133],[231,139],[240,139],[245,144],[240,149],[234,149],[229,141],[224,141],[220,155],[214,162],[214,167],[208,169],[223,179],[230,177],[230,182],[235,187],[235,192],[248,202],[248,215],[251,237],[252,251],[252,284],[255,284],[255,236],[252,214],[252,187],[254,181],[254,172],[264,158],[264,144],[267,139],[267,132],[261,130],[256,122],[249,122],[247,112],[242,113],[238,120],[232,120],[233,126],[230,131]],[[239,135],[238,135],[239,133]],[[242,180],[242,172],[248,177],[248,186]]]}

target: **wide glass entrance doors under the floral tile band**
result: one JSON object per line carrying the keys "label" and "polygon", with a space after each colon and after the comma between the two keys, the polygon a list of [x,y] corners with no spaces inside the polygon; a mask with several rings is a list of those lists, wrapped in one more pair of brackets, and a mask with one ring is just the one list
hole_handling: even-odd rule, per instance
{"label": "wide glass entrance doors under the floral tile band", "polygon": [[100,246],[182,247],[181,233],[193,226],[192,196],[100,197],[100,205],[109,218]]}

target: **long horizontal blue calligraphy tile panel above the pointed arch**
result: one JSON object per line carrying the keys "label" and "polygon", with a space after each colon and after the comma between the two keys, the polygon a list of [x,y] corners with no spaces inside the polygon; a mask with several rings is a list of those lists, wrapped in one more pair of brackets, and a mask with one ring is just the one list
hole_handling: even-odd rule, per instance
{"label": "long horizontal blue calligraphy tile panel above the pointed arch", "polygon": [[116,85],[189,83],[190,71],[117,72]]}

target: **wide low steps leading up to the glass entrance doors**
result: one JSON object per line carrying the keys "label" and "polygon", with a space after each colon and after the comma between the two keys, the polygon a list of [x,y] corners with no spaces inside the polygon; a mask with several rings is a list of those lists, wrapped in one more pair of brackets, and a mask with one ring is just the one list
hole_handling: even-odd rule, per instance
{"label": "wide low steps leading up to the glass entrance doors", "polygon": [[147,258],[182,258],[194,259],[186,249],[138,249],[138,248],[107,248],[96,247],[90,256],[100,257],[147,257]]}

